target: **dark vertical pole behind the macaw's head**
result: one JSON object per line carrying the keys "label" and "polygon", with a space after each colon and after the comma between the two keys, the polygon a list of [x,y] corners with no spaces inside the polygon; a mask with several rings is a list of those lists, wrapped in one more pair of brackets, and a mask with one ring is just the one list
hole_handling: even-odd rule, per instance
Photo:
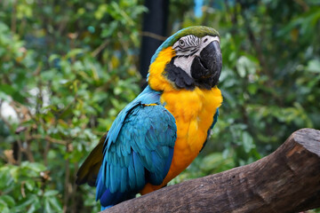
{"label": "dark vertical pole behind the macaw's head", "polygon": [[146,0],[148,12],[144,14],[140,51],[140,74],[145,79],[150,59],[164,42],[169,11],[169,0]]}

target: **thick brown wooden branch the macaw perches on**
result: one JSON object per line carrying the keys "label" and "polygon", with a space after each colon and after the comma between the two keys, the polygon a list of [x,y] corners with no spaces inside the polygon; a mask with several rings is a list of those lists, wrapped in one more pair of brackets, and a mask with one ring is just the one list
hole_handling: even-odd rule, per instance
{"label": "thick brown wooden branch the macaw perches on", "polygon": [[164,187],[108,212],[300,212],[320,207],[320,130],[292,133],[249,165]]}

